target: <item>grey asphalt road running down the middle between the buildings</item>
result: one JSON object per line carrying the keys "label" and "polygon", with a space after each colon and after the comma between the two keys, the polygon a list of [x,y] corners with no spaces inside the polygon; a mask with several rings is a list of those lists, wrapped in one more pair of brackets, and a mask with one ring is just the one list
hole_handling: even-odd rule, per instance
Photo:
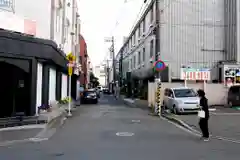
{"label": "grey asphalt road running down the middle between the buildings", "polygon": [[[117,132],[133,133],[116,136]],[[111,96],[82,105],[48,141],[0,148],[1,160],[239,160],[239,144],[200,141]]]}

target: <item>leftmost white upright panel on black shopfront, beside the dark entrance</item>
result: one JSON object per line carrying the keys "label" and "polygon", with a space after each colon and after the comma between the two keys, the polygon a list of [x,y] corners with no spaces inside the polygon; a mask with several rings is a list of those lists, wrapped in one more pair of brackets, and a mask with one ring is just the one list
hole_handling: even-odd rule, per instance
{"label": "leftmost white upright panel on black shopfront, beside the dark entrance", "polygon": [[36,114],[38,107],[42,105],[42,64],[37,64],[37,94],[36,94]]}

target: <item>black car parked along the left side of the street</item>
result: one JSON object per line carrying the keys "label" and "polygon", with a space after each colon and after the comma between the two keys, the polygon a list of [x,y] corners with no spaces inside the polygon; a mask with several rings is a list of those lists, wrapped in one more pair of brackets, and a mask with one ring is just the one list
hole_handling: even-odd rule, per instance
{"label": "black car parked along the left side of the street", "polygon": [[84,91],[81,97],[81,103],[98,103],[97,92],[95,90]]}

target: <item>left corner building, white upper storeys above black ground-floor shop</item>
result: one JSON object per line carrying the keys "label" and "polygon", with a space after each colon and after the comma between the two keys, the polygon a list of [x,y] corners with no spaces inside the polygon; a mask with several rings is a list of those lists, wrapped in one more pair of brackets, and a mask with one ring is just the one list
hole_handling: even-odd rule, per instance
{"label": "left corner building, white upper storeys above black ground-floor shop", "polygon": [[[5,115],[1,116],[11,116],[20,111],[34,115],[41,105],[49,105],[52,101],[67,96],[76,99],[78,75],[72,76],[69,86],[66,54],[80,54],[77,53],[80,52],[80,19],[77,10],[76,0],[42,0],[37,3],[30,0],[0,1],[0,28],[4,29],[0,35],[0,43],[4,44],[0,65],[22,73],[14,78],[14,82],[11,77],[6,77],[3,81],[5,86],[15,88],[12,90],[14,92],[4,98],[13,102],[10,106],[6,105],[13,110],[6,110],[3,112]],[[20,72],[21,70],[28,74]],[[69,87],[71,95],[68,93]],[[26,100],[26,104],[17,100],[21,99],[21,95],[17,95],[20,90],[31,94],[31,99]]]}

